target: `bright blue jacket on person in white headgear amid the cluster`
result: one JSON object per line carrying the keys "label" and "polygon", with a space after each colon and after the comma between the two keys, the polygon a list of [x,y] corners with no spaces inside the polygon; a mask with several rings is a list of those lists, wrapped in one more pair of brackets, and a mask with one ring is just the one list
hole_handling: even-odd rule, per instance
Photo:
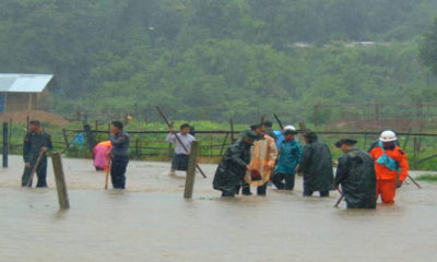
{"label": "bright blue jacket on person in white headgear amid the cluster", "polygon": [[302,160],[302,145],[296,140],[284,140],[281,144],[281,152],[275,167],[276,172],[295,174],[296,166]]}

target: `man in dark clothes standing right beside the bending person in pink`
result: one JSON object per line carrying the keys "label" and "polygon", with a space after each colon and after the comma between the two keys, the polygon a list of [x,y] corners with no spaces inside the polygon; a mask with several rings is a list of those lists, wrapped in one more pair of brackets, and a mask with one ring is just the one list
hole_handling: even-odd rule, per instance
{"label": "man in dark clothes standing right beside the bending person in pink", "polygon": [[110,180],[114,189],[126,188],[126,169],[129,164],[130,136],[123,131],[123,123],[114,121],[110,126]]}

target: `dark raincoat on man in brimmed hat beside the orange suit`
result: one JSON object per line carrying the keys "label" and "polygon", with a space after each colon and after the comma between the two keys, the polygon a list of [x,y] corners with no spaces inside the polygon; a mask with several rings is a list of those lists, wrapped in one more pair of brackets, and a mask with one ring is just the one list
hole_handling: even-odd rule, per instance
{"label": "dark raincoat on man in brimmed hat beside the orange suit", "polygon": [[335,186],[339,184],[349,209],[376,207],[375,164],[366,152],[352,147],[339,158]]}

